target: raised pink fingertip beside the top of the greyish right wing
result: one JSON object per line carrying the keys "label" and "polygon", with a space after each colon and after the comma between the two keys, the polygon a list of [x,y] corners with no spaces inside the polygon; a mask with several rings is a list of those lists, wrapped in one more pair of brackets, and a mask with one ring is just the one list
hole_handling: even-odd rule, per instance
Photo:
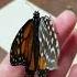
{"label": "raised pink fingertip beside the top of the greyish right wing", "polygon": [[76,15],[72,11],[64,11],[61,15],[56,18],[55,25],[57,31],[57,36],[59,45],[65,42],[66,37],[70,34],[76,23]]}

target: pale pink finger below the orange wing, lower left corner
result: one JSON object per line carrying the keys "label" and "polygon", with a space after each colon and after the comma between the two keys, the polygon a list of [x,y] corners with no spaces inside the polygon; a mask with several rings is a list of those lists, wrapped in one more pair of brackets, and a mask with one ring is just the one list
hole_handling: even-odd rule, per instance
{"label": "pale pink finger below the orange wing, lower left corner", "polygon": [[24,77],[25,69],[23,66],[11,66],[9,55],[0,65],[0,77]]}

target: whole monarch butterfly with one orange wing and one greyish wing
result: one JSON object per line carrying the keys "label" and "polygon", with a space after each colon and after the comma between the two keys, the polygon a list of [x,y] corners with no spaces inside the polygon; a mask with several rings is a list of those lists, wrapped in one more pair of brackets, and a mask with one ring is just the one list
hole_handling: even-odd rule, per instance
{"label": "whole monarch butterfly with one orange wing and one greyish wing", "polygon": [[47,72],[56,69],[59,44],[54,24],[47,15],[41,16],[35,11],[18,32],[11,50],[12,66],[23,65],[28,77],[47,77]]}

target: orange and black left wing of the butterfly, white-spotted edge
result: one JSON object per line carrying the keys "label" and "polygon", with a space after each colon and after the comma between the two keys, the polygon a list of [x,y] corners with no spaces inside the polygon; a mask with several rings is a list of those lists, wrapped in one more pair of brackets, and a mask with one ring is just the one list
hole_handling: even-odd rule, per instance
{"label": "orange and black left wing of the butterfly, white-spotted edge", "polygon": [[33,30],[32,20],[29,20],[16,34],[10,52],[12,65],[25,65],[34,70]]}

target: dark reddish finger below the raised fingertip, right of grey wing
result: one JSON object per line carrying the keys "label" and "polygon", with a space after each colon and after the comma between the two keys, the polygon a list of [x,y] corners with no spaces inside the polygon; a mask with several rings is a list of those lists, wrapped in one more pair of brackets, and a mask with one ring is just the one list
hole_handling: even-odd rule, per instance
{"label": "dark reddish finger below the raised fingertip, right of grey wing", "polygon": [[77,53],[77,31],[75,30],[61,51],[58,69],[50,72],[51,77],[65,77]]}

